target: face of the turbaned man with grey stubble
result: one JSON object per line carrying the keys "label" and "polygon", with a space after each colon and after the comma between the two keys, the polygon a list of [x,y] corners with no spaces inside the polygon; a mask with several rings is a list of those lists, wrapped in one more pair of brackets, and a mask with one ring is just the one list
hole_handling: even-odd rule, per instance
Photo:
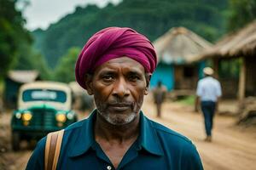
{"label": "face of the turbaned man with grey stubble", "polygon": [[138,116],[148,82],[143,65],[122,57],[98,66],[86,84],[102,117],[113,125],[124,125]]}

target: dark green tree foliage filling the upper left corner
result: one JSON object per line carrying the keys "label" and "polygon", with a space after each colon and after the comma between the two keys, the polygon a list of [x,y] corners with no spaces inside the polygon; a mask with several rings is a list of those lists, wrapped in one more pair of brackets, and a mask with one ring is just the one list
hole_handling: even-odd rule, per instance
{"label": "dark green tree foliage filling the upper left corner", "polygon": [[15,8],[15,0],[0,0],[0,78],[3,78],[20,53],[20,44],[31,43],[24,29],[25,20]]}

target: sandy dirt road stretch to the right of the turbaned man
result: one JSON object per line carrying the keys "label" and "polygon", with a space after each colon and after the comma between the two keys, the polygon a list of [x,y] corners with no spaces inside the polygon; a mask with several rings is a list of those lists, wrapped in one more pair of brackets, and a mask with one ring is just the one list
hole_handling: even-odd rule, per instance
{"label": "sandy dirt road stretch to the right of the turbaned man", "polygon": [[[153,110],[152,110],[153,109]],[[143,111],[153,113],[152,105],[144,105]],[[237,127],[236,119],[216,116],[212,143],[204,141],[203,118],[193,112],[193,107],[177,103],[163,105],[163,116],[148,115],[156,122],[189,137],[196,145],[206,170],[256,169],[256,128]]]}

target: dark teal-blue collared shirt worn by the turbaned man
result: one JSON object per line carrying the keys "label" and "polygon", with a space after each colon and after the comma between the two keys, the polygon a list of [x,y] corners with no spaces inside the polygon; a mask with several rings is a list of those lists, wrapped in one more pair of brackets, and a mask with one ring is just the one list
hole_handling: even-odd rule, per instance
{"label": "dark teal-blue collared shirt worn by the turbaned man", "polygon": [[[65,129],[57,169],[113,170],[113,164],[94,139],[96,110],[89,118]],[[46,138],[38,142],[26,169],[44,169]],[[149,120],[140,113],[140,133],[117,169],[201,170],[195,145],[183,135]]]}

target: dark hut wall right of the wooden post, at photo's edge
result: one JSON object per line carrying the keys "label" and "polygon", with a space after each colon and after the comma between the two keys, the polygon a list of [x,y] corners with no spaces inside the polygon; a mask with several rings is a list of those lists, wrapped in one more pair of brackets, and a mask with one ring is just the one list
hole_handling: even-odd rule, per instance
{"label": "dark hut wall right of the wooden post, at photo's edge", "polygon": [[245,62],[247,67],[245,96],[256,96],[256,57],[247,57]]}

